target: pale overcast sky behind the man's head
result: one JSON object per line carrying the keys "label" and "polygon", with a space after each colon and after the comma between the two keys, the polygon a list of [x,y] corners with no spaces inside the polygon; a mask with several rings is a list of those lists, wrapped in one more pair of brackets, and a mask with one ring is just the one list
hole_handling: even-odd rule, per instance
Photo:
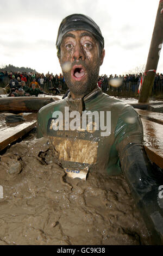
{"label": "pale overcast sky behind the man's head", "polygon": [[[64,17],[90,16],[101,28],[100,74],[126,74],[146,64],[159,0],[0,0],[0,66],[60,73],[55,42]],[[158,72],[163,72],[163,53]]]}

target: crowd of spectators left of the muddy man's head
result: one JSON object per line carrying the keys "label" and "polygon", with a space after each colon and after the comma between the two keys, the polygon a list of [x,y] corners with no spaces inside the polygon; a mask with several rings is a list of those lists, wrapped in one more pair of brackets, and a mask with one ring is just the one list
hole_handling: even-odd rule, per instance
{"label": "crowd of spectators left of the muddy man's head", "polygon": [[[27,72],[7,72],[1,71],[0,82],[9,84],[9,97],[15,96],[38,96],[39,94],[47,94],[53,92],[60,93],[60,90],[66,90],[64,77],[60,74],[34,74]],[[44,92],[46,90],[46,92]]]}

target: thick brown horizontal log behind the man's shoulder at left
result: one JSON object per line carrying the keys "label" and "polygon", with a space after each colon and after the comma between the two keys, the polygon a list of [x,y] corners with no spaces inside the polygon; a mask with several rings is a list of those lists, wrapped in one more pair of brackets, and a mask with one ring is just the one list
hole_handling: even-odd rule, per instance
{"label": "thick brown horizontal log behind the man's shoulder at left", "polygon": [[60,100],[58,97],[2,97],[0,112],[36,113],[43,106]]}

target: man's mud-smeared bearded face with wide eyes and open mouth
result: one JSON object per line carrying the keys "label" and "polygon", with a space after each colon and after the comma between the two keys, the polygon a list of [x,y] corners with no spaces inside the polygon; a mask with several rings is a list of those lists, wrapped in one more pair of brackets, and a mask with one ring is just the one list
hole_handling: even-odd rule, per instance
{"label": "man's mud-smeared bearded face with wide eyes and open mouth", "polygon": [[89,30],[72,29],[61,39],[59,62],[74,96],[84,96],[97,87],[99,67],[103,63],[104,49]]}

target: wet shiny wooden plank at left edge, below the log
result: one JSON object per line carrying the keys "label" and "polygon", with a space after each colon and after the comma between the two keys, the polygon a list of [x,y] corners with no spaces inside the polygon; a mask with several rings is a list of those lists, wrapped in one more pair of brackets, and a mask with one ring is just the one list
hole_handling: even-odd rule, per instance
{"label": "wet shiny wooden plank at left edge, below the log", "polygon": [[0,117],[0,151],[8,147],[9,144],[26,135],[36,125],[36,114],[24,115],[26,121],[7,123],[4,114]]}

